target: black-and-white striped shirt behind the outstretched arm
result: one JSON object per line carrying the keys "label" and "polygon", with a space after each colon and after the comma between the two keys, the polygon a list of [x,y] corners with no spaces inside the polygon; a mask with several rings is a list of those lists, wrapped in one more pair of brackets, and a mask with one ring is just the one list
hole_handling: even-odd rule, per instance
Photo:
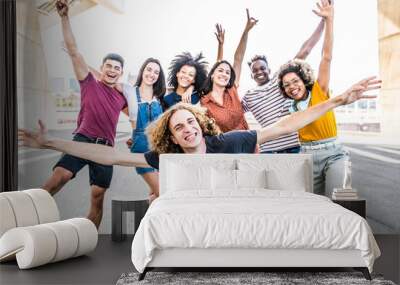
{"label": "black-and-white striped shirt behind the outstretched arm", "polygon": [[[242,99],[243,110],[252,112],[263,128],[289,115],[290,105],[291,100],[281,95],[277,76],[268,83],[247,91]],[[279,151],[297,146],[300,146],[300,142],[295,132],[261,144],[260,152]]]}

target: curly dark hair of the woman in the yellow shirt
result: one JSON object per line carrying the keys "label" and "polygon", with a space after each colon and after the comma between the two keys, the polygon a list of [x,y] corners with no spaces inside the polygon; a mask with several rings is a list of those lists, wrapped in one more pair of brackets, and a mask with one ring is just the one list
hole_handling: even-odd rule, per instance
{"label": "curly dark hair of the woman in the yellow shirt", "polygon": [[283,96],[289,98],[289,96],[285,92],[285,88],[283,87],[282,79],[286,74],[291,72],[296,73],[297,76],[300,77],[300,79],[303,81],[306,89],[308,91],[311,91],[315,83],[314,71],[312,70],[311,66],[304,60],[293,59],[282,65],[278,71],[278,85]]}

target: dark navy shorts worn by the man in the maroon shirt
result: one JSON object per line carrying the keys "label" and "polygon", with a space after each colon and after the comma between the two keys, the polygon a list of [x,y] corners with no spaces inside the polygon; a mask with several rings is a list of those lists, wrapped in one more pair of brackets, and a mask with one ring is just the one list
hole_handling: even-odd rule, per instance
{"label": "dark navy shorts worn by the man in the maroon shirt", "polygon": [[[76,134],[72,140],[76,142],[86,142],[86,143],[95,143],[96,141],[96,139],[89,138],[82,134]],[[101,143],[101,144],[106,144],[106,143]],[[64,154],[61,157],[61,159],[56,163],[56,165],[53,167],[53,170],[56,167],[62,167],[72,172],[72,179],[73,179],[85,165],[89,165],[90,185],[96,185],[106,189],[110,187],[113,174],[112,165],[98,164],[96,162],[82,159],[73,155]]]}

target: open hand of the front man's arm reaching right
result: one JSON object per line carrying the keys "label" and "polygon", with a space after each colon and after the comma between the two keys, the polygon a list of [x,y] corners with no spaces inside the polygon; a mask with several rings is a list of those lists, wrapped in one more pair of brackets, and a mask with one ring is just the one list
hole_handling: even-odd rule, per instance
{"label": "open hand of the front man's arm reaching right", "polygon": [[342,95],[339,95],[341,105],[351,104],[359,99],[372,99],[376,96],[363,95],[364,92],[381,88],[382,81],[376,79],[376,76],[367,77],[346,90]]}

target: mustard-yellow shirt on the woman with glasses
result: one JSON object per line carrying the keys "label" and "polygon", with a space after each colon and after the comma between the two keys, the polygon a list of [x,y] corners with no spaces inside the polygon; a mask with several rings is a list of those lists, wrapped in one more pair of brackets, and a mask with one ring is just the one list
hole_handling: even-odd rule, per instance
{"label": "mustard-yellow shirt on the woman with glasses", "polygon": [[[318,105],[328,99],[328,95],[321,90],[318,82],[315,81],[311,90],[311,99],[308,106],[311,107]],[[299,130],[299,138],[301,142],[319,141],[336,137],[336,135],[336,119],[332,110]]]}

